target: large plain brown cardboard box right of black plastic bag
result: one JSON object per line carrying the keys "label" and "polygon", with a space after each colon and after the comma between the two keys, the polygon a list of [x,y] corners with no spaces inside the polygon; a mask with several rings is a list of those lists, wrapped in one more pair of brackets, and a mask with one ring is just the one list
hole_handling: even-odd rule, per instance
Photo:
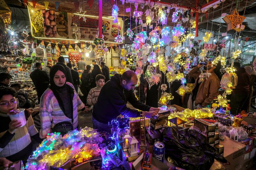
{"label": "large plain brown cardboard box right of black plastic bag", "polygon": [[230,138],[220,141],[224,146],[224,158],[230,163],[229,169],[241,169],[244,162],[245,145]]}

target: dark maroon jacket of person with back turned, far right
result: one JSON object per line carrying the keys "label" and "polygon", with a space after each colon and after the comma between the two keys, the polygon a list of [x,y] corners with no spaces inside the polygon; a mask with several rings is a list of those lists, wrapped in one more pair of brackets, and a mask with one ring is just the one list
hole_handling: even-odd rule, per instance
{"label": "dark maroon jacket of person with back turned, far right", "polygon": [[249,94],[250,92],[250,74],[248,74],[244,68],[238,68],[236,70],[237,85],[233,89],[232,93],[244,93]]}

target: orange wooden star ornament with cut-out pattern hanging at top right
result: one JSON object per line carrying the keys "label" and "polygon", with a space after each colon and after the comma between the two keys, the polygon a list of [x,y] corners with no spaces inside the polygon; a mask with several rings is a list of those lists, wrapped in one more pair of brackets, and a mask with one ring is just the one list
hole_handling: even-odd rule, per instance
{"label": "orange wooden star ornament with cut-out pattern hanging at top right", "polygon": [[227,24],[227,31],[233,29],[240,32],[241,30],[244,30],[245,26],[243,25],[243,21],[246,17],[239,15],[236,9],[231,13],[231,15],[227,15],[226,17],[222,18]]}

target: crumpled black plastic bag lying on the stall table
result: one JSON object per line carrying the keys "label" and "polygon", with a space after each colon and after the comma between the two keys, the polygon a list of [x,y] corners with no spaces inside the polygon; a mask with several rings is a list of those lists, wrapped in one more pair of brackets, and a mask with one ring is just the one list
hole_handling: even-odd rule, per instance
{"label": "crumpled black plastic bag lying on the stall table", "polygon": [[186,170],[210,169],[214,159],[223,163],[227,160],[217,154],[206,138],[193,129],[172,126],[163,132],[165,155]]}

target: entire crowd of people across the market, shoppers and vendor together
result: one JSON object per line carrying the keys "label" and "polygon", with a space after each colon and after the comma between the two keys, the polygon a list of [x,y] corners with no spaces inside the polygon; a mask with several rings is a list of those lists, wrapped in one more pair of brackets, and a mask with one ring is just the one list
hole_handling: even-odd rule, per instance
{"label": "entire crowd of people across the market, shoppers and vendor together", "polygon": [[[161,84],[167,84],[166,91],[172,94],[176,94],[175,91],[181,85],[180,81],[167,83],[164,73],[157,66],[154,69],[162,77],[157,85],[149,88],[144,79],[149,62],[142,68],[140,85],[135,87],[139,81],[136,70],[128,70],[110,78],[109,68],[104,62],[98,65],[92,60],[91,65],[86,65],[82,58],[78,63],[75,60],[65,63],[64,57],[59,57],[55,65],[51,61],[44,67],[41,63],[36,63],[36,69],[30,73],[40,107],[38,113],[32,115],[28,110],[28,94],[21,90],[20,84],[10,85],[12,76],[8,73],[5,62],[0,65],[0,165],[4,166],[11,161],[26,162],[33,150],[32,140],[41,143],[52,131],[65,134],[79,128],[78,111],[82,114],[92,111],[93,128],[110,132],[108,122],[120,114],[129,117],[145,115],[148,118],[156,115],[159,111],[157,107]],[[241,110],[250,109],[256,71],[253,66],[241,68],[240,63],[234,63],[234,67],[238,79],[229,99],[230,112],[237,115]],[[189,107],[212,107],[214,99],[221,92],[219,89],[223,73],[220,68],[220,63],[206,61],[204,64],[199,62],[188,72],[188,83],[195,84],[188,101],[190,104],[187,104]],[[83,70],[81,78],[77,70]],[[183,68],[177,71],[182,73]],[[205,75],[203,78],[200,76],[202,71]],[[141,111],[128,108],[127,102]],[[169,104],[184,105],[183,99],[177,94]],[[25,126],[21,127],[20,122],[9,118],[8,114],[17,108],[25,108]],[[65,129],[62,128],[63,125]]]}

